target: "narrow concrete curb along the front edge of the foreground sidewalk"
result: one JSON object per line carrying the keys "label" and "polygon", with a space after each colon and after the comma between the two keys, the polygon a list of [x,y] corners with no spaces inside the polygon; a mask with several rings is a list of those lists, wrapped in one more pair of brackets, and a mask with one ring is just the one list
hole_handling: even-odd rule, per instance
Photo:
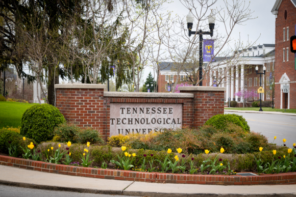
{"label": "narrow concrete curb along the front edge of the foreground sidewalk", "polygon": [[[271,193],[271,194],[241,194],[241,193],[164,193],[164,192],[142,192],[142,191],[113,191],[113,190],[98,190],[98,189],[84,189],[84,188],[72,188],[72,187],[60,187],[60,186],[49,186],[49,185],[36,185],[30,183],[20,183],[12,181],[0,180],[1,185],[8,185],[14,187],[25,187],[31,189],[43,189],[43,190],[55,190],[55,191],[71,191],[71,192],[82,192],[82,193],[95,193],[95,194],[111,194],[111,195],[130,195],[130,196],[145,196],[145,197],[208,197],[208,196],[219,196],[219,197],[295,197],[296,193]],[[227,187],[227,186],[225,186]]]}

